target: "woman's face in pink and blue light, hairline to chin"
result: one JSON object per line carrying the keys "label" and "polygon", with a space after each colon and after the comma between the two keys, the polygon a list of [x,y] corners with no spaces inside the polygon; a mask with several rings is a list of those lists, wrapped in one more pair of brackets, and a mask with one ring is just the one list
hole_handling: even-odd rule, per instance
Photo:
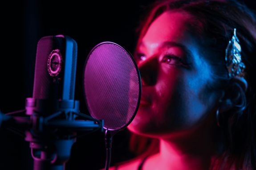
{"label": "woman's face in pink and blue light, hairline to chin", "polygon": [[208,88],[213,70],[204,57],[211,52],[189,32],[189,22],[187,12],[164,12],[138,44],[142,96],[129,130],[150,137],[183,134],[214,112],[218,93]]}

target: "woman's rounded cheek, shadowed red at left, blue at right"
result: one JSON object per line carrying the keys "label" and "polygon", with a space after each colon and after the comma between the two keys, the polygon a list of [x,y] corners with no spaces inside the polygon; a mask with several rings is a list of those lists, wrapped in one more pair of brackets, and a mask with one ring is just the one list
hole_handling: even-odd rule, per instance
{"label": "woman's rounded cheek, shadowed red at left, blue at right", "polygon": [[157,124],[170,130],[186,129],[200,123],[214,106],[214,93],[207,82],[198,76],[175,72],[169,81],[159,81],[158,101],[155,111]]}

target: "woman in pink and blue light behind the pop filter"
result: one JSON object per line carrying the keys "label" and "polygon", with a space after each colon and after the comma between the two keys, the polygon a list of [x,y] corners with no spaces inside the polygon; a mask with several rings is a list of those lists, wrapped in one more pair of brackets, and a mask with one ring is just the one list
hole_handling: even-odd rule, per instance
{"label": "woman in pink and blue light behind the pop filter", "polygon": [[154,4],[135,52],[142,98],[128,127],[143,153],[110,169],[256,170],[255,54],[255,17],[234,0]]}

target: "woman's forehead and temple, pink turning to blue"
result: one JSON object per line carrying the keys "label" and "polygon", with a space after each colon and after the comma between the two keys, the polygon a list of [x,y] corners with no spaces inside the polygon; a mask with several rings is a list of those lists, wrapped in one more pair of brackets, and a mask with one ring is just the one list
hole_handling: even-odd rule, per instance
{"label": "woman's forehead and temple, pink turning to blue", "polygon": [[[154,56],[165,51],[163,49],[165,42],[182,44],[191,54],[189,58],[195,70],[199,71],[205,69],[204,67],[209,67],[205,56],[212,57],[213,53],[201,41],[200,36],[190,30],[191,22],[197,24],[198,28],[202,27],[202,24],[188,12],[182,10],[164,12],[150,24],[142,42],[138,43],[138,50],[147,56]],[[176,49],[171,48],[171,50],[175,51]],[[207,72],[206,70],[205,72]]]}

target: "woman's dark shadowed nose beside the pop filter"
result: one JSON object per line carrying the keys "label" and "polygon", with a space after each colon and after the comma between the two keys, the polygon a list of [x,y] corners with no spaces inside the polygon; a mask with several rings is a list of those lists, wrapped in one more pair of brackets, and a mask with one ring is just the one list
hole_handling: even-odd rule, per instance
{"label": "woman's dark shadowed nose beside the pop filter", "polygon": [[156,83],[158,75],[157,57],[149,57],[144,61],[140,61],[138,69],[141,73],[142,86],[152,86]]}

